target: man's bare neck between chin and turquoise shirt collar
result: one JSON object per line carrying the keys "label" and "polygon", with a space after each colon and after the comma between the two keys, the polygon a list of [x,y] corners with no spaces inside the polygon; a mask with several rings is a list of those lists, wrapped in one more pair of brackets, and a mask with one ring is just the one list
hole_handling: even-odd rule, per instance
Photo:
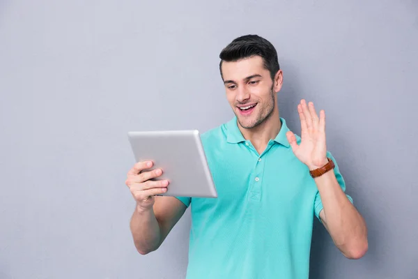
{"label": "man's bare neck between chin and turquoise shirt collar", "polygon": [[274,112],[268,119],[265,119],[263,123],[254,128],[245,129],[242,128],[239,123],[238,128],[240,128],[245,140],[249,140],[258,153],[261,154],[268,142],[274,140],[277,134],[279,134],[281,129],[279,110],[274,109]]}

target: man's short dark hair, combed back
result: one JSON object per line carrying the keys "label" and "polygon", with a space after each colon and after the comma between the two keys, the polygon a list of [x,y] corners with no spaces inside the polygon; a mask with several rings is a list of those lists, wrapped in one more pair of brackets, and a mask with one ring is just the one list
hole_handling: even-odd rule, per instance
{"label": "man's short dark hair, combed back", "polygon": [[258,35],[245,35],[235,38],[219,54],[219,70],[222,76],[222,61],[233,62],[251,56],[261,56],[264,67],[270,71],[270,76],[274,80],[277,71],[280,70],[277,51],[268,40]]}

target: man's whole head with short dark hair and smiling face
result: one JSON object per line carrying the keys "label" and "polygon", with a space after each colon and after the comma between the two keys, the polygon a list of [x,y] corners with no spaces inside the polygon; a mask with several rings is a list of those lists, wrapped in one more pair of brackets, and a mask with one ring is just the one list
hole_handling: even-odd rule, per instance
{"label": "man's whole head with short dark hair and smiling face", "polygon": [[254,128],[276,108],[282,73],[274,46],[256,35],[241,36],[221,54],[219,70],[226,97],[243,128]]}

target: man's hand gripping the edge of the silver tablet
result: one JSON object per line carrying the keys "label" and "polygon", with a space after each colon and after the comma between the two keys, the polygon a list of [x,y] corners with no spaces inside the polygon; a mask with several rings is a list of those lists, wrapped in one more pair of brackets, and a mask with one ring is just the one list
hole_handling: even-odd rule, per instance
{"label": "man's hand gripping the edge of the silver tablet", "polygon": [[154,169],[144,172],[145,169],[153,167],[152,162],[139,162],[127,172],[126,186],[130,188],[134,199],[137,201],[137,208],[141,210],[149,210],[153,208],[155,197],[167,192],[169,181],[160,180],[153,181],[155,177],[161,176],[162,169]]}

